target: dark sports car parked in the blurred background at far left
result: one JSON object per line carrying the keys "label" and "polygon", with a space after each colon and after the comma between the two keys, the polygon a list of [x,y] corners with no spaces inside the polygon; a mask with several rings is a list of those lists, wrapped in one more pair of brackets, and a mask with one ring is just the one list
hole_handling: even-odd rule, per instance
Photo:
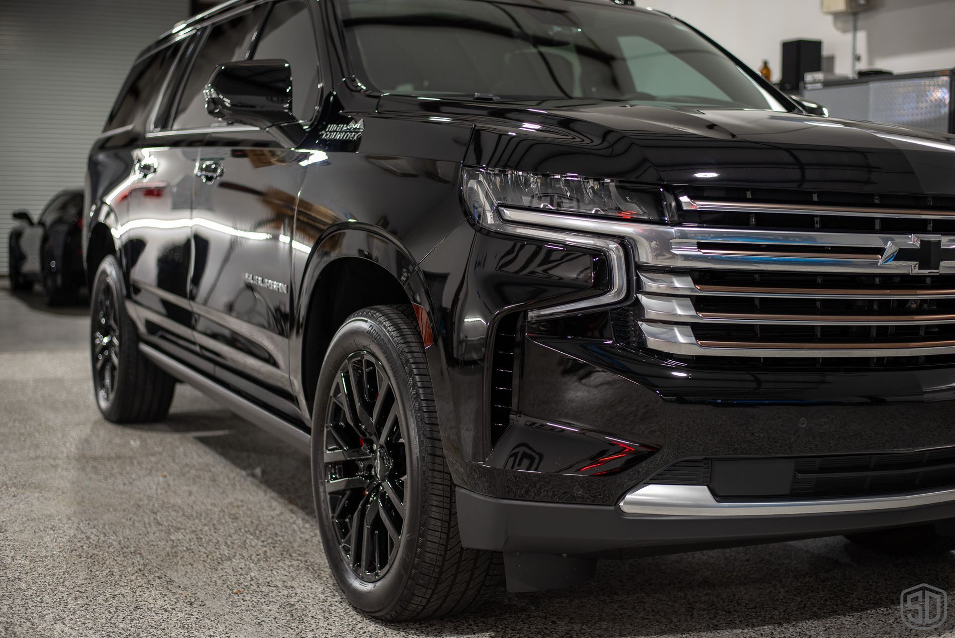
{"label": "dark sports car parked in the blurred background at far left", "polygon": [[30,211],[17,210],[21,223],[10,233],[10,282],[14,290],[43,285],[50,304],[72,301],[84,285],[83,191],[60,191],[34,223]]}

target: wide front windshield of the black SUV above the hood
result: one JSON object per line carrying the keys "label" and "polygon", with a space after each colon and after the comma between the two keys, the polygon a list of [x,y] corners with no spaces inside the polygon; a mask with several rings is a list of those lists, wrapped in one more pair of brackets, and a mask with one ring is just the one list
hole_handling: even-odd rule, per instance
{"label": "wide front windshield of the black SUV above the hood", "polygon": [[344,0],[353,61],[411,96],[592,98],[673,108],[787,111],[667,16],[571,0]]}

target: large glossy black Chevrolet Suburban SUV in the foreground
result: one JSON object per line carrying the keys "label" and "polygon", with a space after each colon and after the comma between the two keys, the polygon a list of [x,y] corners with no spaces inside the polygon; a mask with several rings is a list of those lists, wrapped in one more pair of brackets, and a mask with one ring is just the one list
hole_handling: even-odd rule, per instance
{"label": "large glossy black Chevrolet Suburban SUV in the foreground", "polygon": [[310,450],[386,619],[602,557],[955,537],[955,138],[623,0],[229,2],[89,163],[96,400]]}

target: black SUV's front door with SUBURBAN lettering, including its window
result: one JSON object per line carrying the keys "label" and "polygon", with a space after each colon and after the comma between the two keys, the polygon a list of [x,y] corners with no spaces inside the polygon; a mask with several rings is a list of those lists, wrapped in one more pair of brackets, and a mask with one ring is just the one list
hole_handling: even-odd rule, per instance
{"label": "black SUV's front door with SUBURBAN lettering, including its window", "polygon": [[[275,3],[250,57],[289,63],[294,109],[308,125],[319,92],[308,5]],[[297,413],[288,376],[290,238],[306,163],[264,131],[217,129],[202,147],[193,206],[197,339],[224,382],[288,415]]]}

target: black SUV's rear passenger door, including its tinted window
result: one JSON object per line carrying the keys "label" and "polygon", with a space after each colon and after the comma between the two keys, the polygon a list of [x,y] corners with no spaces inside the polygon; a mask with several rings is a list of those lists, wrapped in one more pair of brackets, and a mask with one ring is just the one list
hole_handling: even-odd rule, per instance
{"label": "black SUV's rear passenger door, including its tinted window", "polygon": [[205,114],[202,89],[214,60],[244,57],[263,17],[262,5],[226,13],[187,39],[134,158],[129,219],[121,226],[131,294],[148,332],[191,351],[199,350],[189,278],[196,258],[192,201],[200,149],[217,123]]}

